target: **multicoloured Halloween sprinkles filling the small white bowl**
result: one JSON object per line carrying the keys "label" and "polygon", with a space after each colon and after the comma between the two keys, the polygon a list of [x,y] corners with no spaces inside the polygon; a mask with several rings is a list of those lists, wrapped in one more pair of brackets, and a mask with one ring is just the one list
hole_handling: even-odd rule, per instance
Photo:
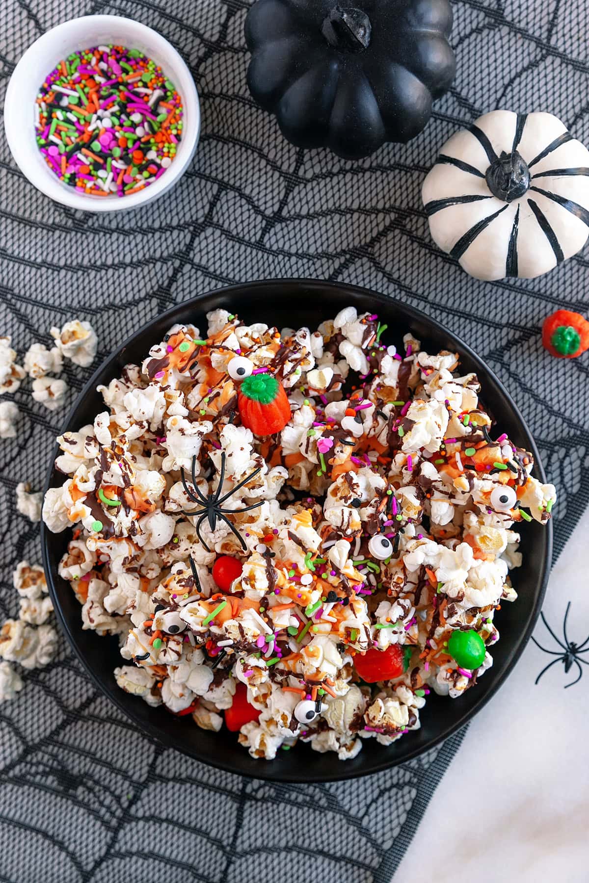
{"label": "multicoloured Halloween sprinkles filling the small white bowl", "polygon": [[153,184],[182,139],[182,99],[139,49],[79,49],[42,82],[35,132],[57,177],[78,192],[128,196]]}

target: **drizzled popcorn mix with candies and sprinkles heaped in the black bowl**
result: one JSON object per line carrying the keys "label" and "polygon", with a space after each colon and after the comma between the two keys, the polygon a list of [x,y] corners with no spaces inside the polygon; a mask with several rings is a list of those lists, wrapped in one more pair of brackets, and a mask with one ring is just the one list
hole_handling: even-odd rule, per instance
{"label": "drizzled popcorn mix with candies and sprinkles heaped in the black bowl", "polygon": [[[519,525],[555,503],[457,354],[385,331],[353,307],[316,330],[215,310],[57,440],[42,517],[72,532],[59,575],[83,627],[117,636],[117,683],[256,758],[298,740],[353,758],[418,729],[430,691],[472,688],[517,597]],[[6,660],[42,622],[24,597]]]}

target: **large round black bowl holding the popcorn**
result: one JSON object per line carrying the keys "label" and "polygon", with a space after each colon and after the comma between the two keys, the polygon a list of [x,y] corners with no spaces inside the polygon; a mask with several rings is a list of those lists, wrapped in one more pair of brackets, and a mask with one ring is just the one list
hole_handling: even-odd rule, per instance
{"label": "large round black bowl holding the popcorn", "polygon": [[[458,351],[464,371],[479,375],[482,401],[495,417],[499,431],[507,432],[518,446],[532,451],[536,474],[544,479],[538,450],[516,405],[495,374],[465,343],[411,306],[339,283],[305,280],[244,283],[175,306],[141,328],[104,362],[80,393],[64,429],[78,429],[92,423],[94,415],[103,410],[102,396],[96,392],[96,386],[108,384],[113,377],[119,376],[126,363],[140,364],[150,345],[159,342],[174,322],[191,321],[201,329],[206,328],[205,313],[224,307],[230,312],[238,312],[246,322],[265,321],[278,328],[301,325],[316,328],[322,320],[332,318],[347,305],[356,306],[361,312],[378,313],[381,321],[389,325],[387,339],[397,346],[402,343],[404,333],[412,331],[425,348]],[[64,476],[51,463],[46,489],[57,487],[63,481]],[[497,615],[501,640],[493,649],[493,668],[462,698],[440,698],[432,693],[421,714],[421,729],[417,732],[404,736],[389,748],[370,740],[357,758],[345,762],[338,760],[333,753],[318,754],[303,744],[293,751],[279,751],[276,760],[253,760],[238,745],[237,737],[225,728],[220,733],[201,730],[188,717],[175,717],[163,707],[150,708],[142,699],[119,690],[113,676],[113,669],[121,664],[117,638],[101,638],[94,631],[82,631],[79,603],[70,585],[57,576],[57,563],[64,553],[69,532],[53,534],[43,526],[42,552],[51,598],[75,652],[95,683],[138,728],[165,745],[231,773],[275,781],[330,781],[376,773],[416,757],[462,727],[499,689],[524,650],[540,613],[551,557],[550,524],[542,528],[536,522],[522,523],[521,532],[525,563],[514,574],[519,598],[515,604],[503,604],[500,615]]]}

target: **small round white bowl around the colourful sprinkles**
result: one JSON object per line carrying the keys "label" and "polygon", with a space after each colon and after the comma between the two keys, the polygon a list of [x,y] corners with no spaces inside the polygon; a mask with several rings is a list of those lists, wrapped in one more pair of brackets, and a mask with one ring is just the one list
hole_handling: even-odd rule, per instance
{"label": "small round white bowl around the colourful sprinkles", "polygon": [[[165,173],[138,193],[101,197],[76,192],[49,170],[36,142],[34,102],[47,74],[77,49],[114,43],[140,49],[162,67],[174,83],[184,107],[182,139],[174,161]],[[88,15],[52,28],[26,49],[11,76],[4,102],[4,130],[11,154],[20,170],[38,190],[52,200],[87,212],[116,212],[137,208],[157,199],[185,172],[199,141],[200,105],[194,80],[176,49],[160,34],[139,21],[116,15]]]}

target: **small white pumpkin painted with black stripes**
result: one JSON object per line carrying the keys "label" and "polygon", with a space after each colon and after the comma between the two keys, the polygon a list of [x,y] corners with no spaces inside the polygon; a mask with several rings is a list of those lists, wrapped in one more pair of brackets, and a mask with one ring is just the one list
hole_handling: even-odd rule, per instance
{"label": "small white pumpkin painted with black stripes", "polygon": [[446,141],[421,196],[467,273],[532,279],[589,236],[589,150],[552,114],[493,110]]}

